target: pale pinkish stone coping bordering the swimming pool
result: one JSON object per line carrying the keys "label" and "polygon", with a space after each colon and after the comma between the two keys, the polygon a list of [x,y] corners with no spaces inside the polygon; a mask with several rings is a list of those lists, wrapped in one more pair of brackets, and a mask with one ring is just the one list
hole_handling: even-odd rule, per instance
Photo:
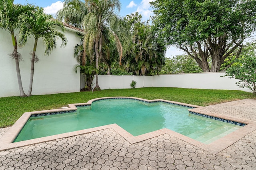
{"label": "pale pinkish stone coping bordering the swimming pool", "polygon": [[[130,134],[129,132],[127,132],[126,130],[124,130],[123,128],[118,126],[117,124],[105,125],[105,126],[95,127],[95,128],[88,128],[88,129],[83,129],[83,130],[77,130],[77,131],[74,131],[74,132],[67,132],[67,133],[63,133],[63,134],[56,134],[56,135],[52,135],[52,136],[46,136],[46,137],[42,137],[42,138],[35,138],[35,139],[30,139],[30,140],[25,140],[25,141],[12,143],[14,141],[14,139],[16,138],[16,136],[18,135],[18,133],[20,132],[20,130],[23,128],[24,124],[31,117],[31,115],[66,112],[66,111],[75,111],[75,110],[77,110],[78,106],[91,105],[94,101],[99,101],[99,100],[104,100],[104,99],[116,99],[116,98],[117,99],[118,98],[135,99],[135,100],[139,100],[139,101],[145,101],[145,102],[148,102],[148,103],[166,102],[166,103],[172,103],[174,105],[185,105],[187,107],[194,108],[194,109],[188,109],[188,111],[190,111],[190,112],[200,113],[200,114],[209,115],[209,116],[212,116],[212,117],[217,117],[217,118],[226,119],[226,120],[230,120],[230,121],[240,122],[240,123],[244,123],[244,124],[247,124],[247,125],[238,129],[238,130],[236,130],[236,131],[234,131],[234,132],[232,132],[232,133],[230,133],[230,134],[228,134],[228,135],[226,135],[226,136],[224,136],[224,137],[222,137],[222,138],[220,138],[220,139],[218,139],[218,140],[215,140],[214,142],[212,142],[210,144],[204,144],[202,142],[199,142],[197,140],[194,140],[192,138],[189,138],[187,136],[184,136],[182,134],[179,134],[178,132],[174,132],[174,131],[172,131],[170,129],[167,129],[167,128],[163,128],[163,129],[156,130],[156,131],[153,131],[153,132],[149,132],[149,133],[146,133],[146,134],[142,134],[142,135],[139,135],[139,136],[133,136],[132,134]],[[208,152],[216,154],[216,153],[224,150],[228,146],[234,144],[235,142],[237,142],[238,140],[240,140],[241,138],[243,138],[244,136],[246,136],[250,132],[256,130],[256,123],[255,122],[243,121],[243,120],[236,119],[236,118],[233,118],[233,117],[226,117],[226,116],[223,116],[223,115],[218,115],[216,113],[215,114],[206,113],[206,112],[201,111],[201,109],[204,108],[204,107],[201,107],[201,106],[190,105],[190,104],[180,103],[180,102],[175,102],[175,101],[168,101],[168,100],[163,100],[163,99],[147,100],[147,99],[141,99],[141,98],[137,98],[137,97],[102,97],[102,98],[92,99],[92,100],[88,101],[87,103],[75,103],[75,104],[69,104],[68,106],[69,106],[69,108],[66,108],[66,109],[52,109],[52,110],[33,111],[33,112],[24,113],[20,117],[20,119],[18,119],[18,121],[16,121],[16,123],[14,123],[14,125],[0,139],[0,151],[8,150],[8,149],[11,149],[11,148],[27,146],[27,145],[31,145],[31,144],[37,144],[37,143],[46,142],[46,141],[51,141],[51,140],[56,140],[56,139],[59,139],[59,138],[66,138],[66,137],[70,137],[70,136],[86,134],[86,133],[95,132],[95,131],[103,130],[103,129],[107,129],[107,128],[112,128],[118,134],[120,134],[120,136],[124,137],[128,142],[130,142],[130,144],[141,142],[143,140],[154,138],[156,136],[167,133],[167,134],[170,134],[170,135],[172,135],[176,138],[180,138],[181,140],[184,140],[184,141],[186,141],[186,142],[188,142],[192,145],[198,146],[199,148],[207,150]],[[236,136],[236,137],[234,137],[234,136]]]}

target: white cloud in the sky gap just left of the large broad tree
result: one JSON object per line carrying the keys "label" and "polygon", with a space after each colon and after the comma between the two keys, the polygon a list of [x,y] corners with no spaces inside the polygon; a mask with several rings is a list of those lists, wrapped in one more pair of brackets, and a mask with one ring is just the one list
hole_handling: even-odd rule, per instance
{"label": "white cloud in the sky gap just left of the large broad tree", "polygon": [[149,2],[152,1],[154,0],[142,0],[140,2],[140,5],[138,6],[136,12],[139,12],[142,15],[142,20],[148,20],[150,16],[154,16],[152,8],[149,4]]}

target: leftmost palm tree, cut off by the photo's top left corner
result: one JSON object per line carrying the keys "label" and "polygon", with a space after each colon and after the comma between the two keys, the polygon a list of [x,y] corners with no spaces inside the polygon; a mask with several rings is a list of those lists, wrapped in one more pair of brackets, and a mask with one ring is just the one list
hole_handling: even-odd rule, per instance
{"label": "leftmost palm tree, cut off by the photo's top left corner", "polygon": [[10,56],[15,60],[20,96],[26,96],[22,87],[22,80],[20,75],[19,61],[22,58],[17,50],[17,34],[14,34],[14,31],[17,30],[20,26],[21,14],[31,12],[35,9],[35,7],[30,4],[13,4],[13,2],[14,0],[0,0],[0,28],[7,30],[11,34],[13,52],[10,54]]}

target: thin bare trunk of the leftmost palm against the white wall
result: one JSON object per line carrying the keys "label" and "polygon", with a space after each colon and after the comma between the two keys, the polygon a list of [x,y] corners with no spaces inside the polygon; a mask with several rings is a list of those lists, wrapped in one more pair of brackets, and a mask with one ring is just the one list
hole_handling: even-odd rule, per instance
{"label": "thin bare trunk of the leftmost palm against the white wall", "polygon": [[11,32],[11,36],[12,36],[12,44],[13,44],[13,52],[14,52],[14,59],[15,59],[15,65],[16,65],[16,73],[18,78],[18,85],[20,89],[20,96],[25,97],[26,94],[24,93],[24,90],[22,87],[22,81],[21,81],[21,75],[20,75],[20,64],[19,64],[20,57],[18,56],[18,51],[17,51],[17,40],[13,32]]}

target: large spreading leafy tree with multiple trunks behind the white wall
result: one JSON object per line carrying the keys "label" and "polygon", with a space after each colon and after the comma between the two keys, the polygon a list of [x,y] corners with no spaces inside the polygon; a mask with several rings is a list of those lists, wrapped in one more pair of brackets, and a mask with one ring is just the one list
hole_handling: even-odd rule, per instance
{"label": "large spreading leafy tree with multiple trunks behind the white wall", "polygon": [[186,51],[204,72],[219,71],[229,56],[238,58],[244,40],[255,30],[255,0],[155,0],[150,3],[155,14],[153,23],[163,42]]}

